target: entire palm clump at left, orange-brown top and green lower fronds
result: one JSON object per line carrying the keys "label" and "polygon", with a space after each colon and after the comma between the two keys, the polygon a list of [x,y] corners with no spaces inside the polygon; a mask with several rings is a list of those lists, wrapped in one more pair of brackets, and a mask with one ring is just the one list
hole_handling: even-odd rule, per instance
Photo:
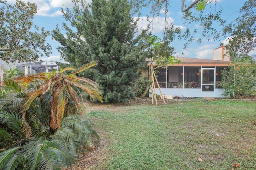
{"label": "entire palm clump at left, orange-brown top and green lower fronds", "polygon": [[0,170],[72,166],[91,136],[98,137],[90,121],[77,113],[83,91],[98,101],[101,93],[94,81],[75,75],[96,64],[4,81],[12,93],[0,98]]}

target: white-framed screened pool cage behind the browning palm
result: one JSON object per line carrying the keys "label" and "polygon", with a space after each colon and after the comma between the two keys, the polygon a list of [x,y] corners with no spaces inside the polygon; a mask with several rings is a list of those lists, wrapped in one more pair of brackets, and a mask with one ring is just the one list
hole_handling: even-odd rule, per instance
{"label": "white-framed screened pool cage behind the browning palm", "polygon": [[64,62],[42,60],[42,61],[34,61],[31,63],[22,63],[19,65],[16,65],[16,68],[25,75],[37,74],[37,73],[48,73],[48,72],[52,72],[53,70],[60,69],[60,66],[58,66],[57,63],[68,64]]}

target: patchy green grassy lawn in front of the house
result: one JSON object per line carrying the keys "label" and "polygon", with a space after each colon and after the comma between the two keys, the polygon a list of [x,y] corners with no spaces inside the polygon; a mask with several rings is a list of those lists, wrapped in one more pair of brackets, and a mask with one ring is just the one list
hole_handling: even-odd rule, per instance
{"label": "patchy green grassy lawn in front of the house", "polygon": [[256,169],[255,101],[90,107],[108,141],[96,170]]}

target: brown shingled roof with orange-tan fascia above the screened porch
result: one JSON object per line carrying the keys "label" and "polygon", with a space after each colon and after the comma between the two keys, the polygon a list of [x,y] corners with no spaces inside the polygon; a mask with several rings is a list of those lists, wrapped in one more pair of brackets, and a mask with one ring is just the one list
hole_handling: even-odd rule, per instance
{"label": "brown shingled roof with orange-tan fascia above the screened porch", "polygon": [[[181,62],[179,64],[175,63],[174,66],[228,66],[230,64],[230,61],[214,59],[199,59],[189,57],[176,57],[176,59],[180,60]],[[170,66],[172,65],[170,64]]]}

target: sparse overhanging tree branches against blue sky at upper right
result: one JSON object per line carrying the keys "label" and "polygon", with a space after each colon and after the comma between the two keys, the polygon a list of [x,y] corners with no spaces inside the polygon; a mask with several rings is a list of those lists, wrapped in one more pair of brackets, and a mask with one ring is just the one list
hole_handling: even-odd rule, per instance
{"label": "sparse overhanging tree branches against blue sky at upper right", "polygon": [[[148,15],[149,18],[157,16],[165,17],[164,37],[172,40],[172,37],[168,37],[169,31],[173,30],[172,23],[168,23],[170,15],[170,8],[172,2],[170,0],[135,0],[137,9],[151,7],[151,12]],[[234,21],[227,23],[222,15],[221,4],[218,0],[181,0],[180,7],[183,12],[184,26],[186,29],[184,32],[180,32],[180,40],[186,40],[184,43],[184,49],[188,47],[188,44],[192,41],[201,43],[203,39],[222,41],[227,39],[229,53],[245,53],[256,48],[256,0],[246,0],[240,10],[233,11],[230,15],[238,14]],[[162,14],[164,12],[164,14]],[[218,27],[216,27],[218,26]],[[163,38],[164,40],[164,38]]]}

